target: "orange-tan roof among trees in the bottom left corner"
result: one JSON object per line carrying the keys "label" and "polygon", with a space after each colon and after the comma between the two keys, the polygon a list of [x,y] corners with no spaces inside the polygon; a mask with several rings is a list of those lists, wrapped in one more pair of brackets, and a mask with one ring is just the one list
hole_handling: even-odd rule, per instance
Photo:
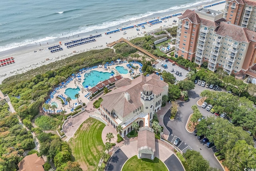
{"label": "orange-tan roof among trees in the bottom left corner", "polygon": [[36,153],[27,155],[18,163],[18,171],[44,171],[44,159],[38,157]]}

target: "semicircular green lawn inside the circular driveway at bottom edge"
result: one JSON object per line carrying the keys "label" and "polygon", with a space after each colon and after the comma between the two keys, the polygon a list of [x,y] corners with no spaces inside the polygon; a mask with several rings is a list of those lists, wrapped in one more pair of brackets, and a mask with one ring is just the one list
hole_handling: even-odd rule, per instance
{"label": "semicircular green lawn inside the circular driveway at bottom edge", "polygon": [[164,163],[155,157],[150,159],[138,159],[137,155],[128,159],[122,171],[168,171]]}

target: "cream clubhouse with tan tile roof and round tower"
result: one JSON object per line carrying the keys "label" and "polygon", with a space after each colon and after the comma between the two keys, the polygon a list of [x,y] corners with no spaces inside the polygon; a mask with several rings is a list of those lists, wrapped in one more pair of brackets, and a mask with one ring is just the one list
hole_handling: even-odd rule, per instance
{"label": "cream clubhouse with tan tile roof and round tower", "polygon": [[116,88],[102,96],[100,113],[114,127],[122,126],[122,136],[132,130],[132,123],[148,126],[154,112],[161,109],[162,96],[168,95],[168,84],[156,74],[123,78]]}

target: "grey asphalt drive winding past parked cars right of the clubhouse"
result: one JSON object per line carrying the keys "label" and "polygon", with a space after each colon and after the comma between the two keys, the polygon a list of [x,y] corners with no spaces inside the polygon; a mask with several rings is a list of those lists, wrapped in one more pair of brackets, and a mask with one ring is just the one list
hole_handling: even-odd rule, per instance
{"label": "grey asphalt drive winding past parked cars right of the clubhouse", "polygon": [[[168,141],[172,142],[176,137],[181,138],[181,142],[177,145],[180,150],[182,150],[183,152],[186,152],[188,149],[199,151],[204,159],[209,161],[210,166],[223,170],[221,165],[214,157],[214,152],[216,151],[215,147],[206,147],[206,145],[200,142],[196,138],[196,136],[188,133],[185,128],[189,115],[193,113],[191,107],[196,104],[196,102],[200,99],[200,92],[206,89],[212,90],[210,88],[205,88],[199,85],[196,85],[194,90],[190,90],[188,92],[189,100],[188,102],[183,102],[179,104],[178,114],[176,115],[175,120],[170,121],[170,112],[167,112],[164,116],[164,125],[170,132]],[[222,89],[219,88],[218,91],[222,91]],[[199,106],[198,108],[203,116],[213,116],[212,113],[208,112],[204,108]]]}

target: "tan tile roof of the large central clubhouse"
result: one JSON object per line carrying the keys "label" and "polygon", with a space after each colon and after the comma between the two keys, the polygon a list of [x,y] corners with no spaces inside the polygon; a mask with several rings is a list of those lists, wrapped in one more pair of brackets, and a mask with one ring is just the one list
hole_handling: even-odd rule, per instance
{"label": "tan tile roof of the large central clubhouse", "polygon": [[[152,76],[150,77],[151,79],[146,82],[146,77],[141,75],[140,77],[132,80],[131,84],[117,87],[102,96],[103,101],[101,104],[110,112],[114,110],[117,115],[122,117],[126,116],[130,112],[142,106],[142,102],[140,101],[140,92],[142,92],[142,86],[145,85],[145,83],[150,86],[150,89],[152,89],[152,92],[156,95],[164,91],[163,87],[166,86],[167,83],[160,80],[159,76]],[[119,82],[118,85],[121,85],[121,82]],[[124,97],[126,92],[130,94],[129,101]]]}

